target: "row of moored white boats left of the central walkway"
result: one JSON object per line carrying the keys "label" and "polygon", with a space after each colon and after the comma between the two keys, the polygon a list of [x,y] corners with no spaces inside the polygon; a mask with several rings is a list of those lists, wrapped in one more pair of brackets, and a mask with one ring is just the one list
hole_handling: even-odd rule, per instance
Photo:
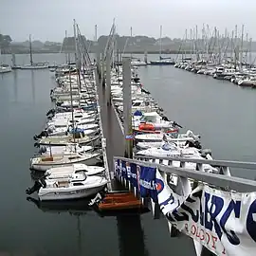
{"label": "row of moored white boats left of the central walkway", "polygon": [[93,67],[81,81],[76,68],[59,68],[56,82],[50,92],[55,108],[46,113],[44,131],[34,136],[38,152],[30,170],[37,179],[27,194],[37,192],[42,201],[90,197],[107,184]]}

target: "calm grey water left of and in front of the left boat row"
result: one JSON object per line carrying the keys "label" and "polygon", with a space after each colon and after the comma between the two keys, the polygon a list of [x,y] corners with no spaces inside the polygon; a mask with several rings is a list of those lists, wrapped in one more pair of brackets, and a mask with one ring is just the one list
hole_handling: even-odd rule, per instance
{"label": "calm grey water left of and in front of the left boat row", "polygon": [[[64,56],[35,55],[35,61],[62,63]],[[5,56],[7,63],[10,57]],[[27,64],[28,56],[17,56]],[[150,73],[149,73],[150,74]],[[48,70],[16,70],[0,76],[0,254],[4,255],[194,255],[188,237],[170,239],[165,219],[151,212],[101,217],[85,203],[35,205],[25,190],[32,181],[29,157],[33,135],[41,131],[50,108]],[[68,209],[68,210],[66,210]]]}

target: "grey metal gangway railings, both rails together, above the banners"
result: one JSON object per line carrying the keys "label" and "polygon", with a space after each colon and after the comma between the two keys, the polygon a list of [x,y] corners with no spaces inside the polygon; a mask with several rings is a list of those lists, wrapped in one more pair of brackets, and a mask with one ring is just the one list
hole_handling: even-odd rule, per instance
{"label": "grey metal gangway railings, both rails together, above the banners", "polygon": [[[236,192],[256,192],[256,181],[231,176],[229,167],[256,170],[256,163],[239,162],[239,161],[224,161],[224,160],[208,160],[208,159],[195,159],[186,157],[154,157],[154,156],[136,156],[137,159],[129,159],[120,156],[114,156],[114,160],[119,159],[129,163],[139,164],[147,167],[157,167],[160,173],[166,175],[175,175],[190,180],[202,183],[208,183],[210,186],[223,188],[225,190]],[[157,163],[158,160],[158,163]],[[168,160],[168,165],[163,164],[163,160]],[[180,167],[174,167],[173,162],[180,162]],[[195,163],[194,170],[185,168],[186,163]],[[219,174],[206,173],[203,171],[203,165],[209,164],[214,167],[226,170]],[[227,170],[228,169],[228,170]]]}

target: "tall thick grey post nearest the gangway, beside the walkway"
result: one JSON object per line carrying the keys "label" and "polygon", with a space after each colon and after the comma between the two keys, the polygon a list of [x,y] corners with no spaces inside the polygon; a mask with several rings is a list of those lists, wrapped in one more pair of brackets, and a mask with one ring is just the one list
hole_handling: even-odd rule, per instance
{"label": "tall thick grey post nearest the gangway, beside the walkway", "polygon": [[124,156],[133,157],[132,96],[131,96],[131,58],[122,58],[123,126],[125,139]]}

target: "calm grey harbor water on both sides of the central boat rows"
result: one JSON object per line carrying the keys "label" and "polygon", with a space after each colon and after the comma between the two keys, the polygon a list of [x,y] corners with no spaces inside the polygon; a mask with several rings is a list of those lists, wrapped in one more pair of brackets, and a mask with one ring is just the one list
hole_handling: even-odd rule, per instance
{"label": "calm grey harbor water on both sides of the central boat rows", "polygon": [[[5,56],[7,63],[10,56]],[[155,58],[155,56],[149,58]],[[59,54],[35,55],[35,61],[64,62]],[[28,56],[16,56],[17,64]],[[216,159],[255,161],[256,90],[195,75],[174,66],[139,67],[143,86],[184,130],[201,135]],[[36,205],[27,201],[31,185],[29,157],[51,107],[55,86],[49,70],[16,70],[0,76],[1,170],[0,255],[195,255],[192,240],[170,238],[164,218],[101,217],[85,206]],[[254,171],[232,170],[254,178]]]}

